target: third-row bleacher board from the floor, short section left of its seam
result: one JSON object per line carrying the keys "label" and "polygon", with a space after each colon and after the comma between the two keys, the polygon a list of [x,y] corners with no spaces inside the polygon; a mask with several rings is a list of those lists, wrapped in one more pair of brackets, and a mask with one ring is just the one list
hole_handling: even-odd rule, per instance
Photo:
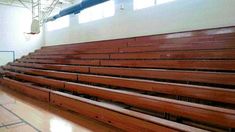
{"label": "third-row bleacher board from the floor, short section left of its seam", "polygon": [[59,79],[66,79],[66,80],[73,80],[73,81],[77,80],[77,74],[75,73],[38,70],[38,69],[22,68],[22,67],[16,67],[16,66],[5,66],[4,68],[7,70],[20,71],[20,72],[25,72],[29,74],[52,77],[52,78],[59,78]]}

